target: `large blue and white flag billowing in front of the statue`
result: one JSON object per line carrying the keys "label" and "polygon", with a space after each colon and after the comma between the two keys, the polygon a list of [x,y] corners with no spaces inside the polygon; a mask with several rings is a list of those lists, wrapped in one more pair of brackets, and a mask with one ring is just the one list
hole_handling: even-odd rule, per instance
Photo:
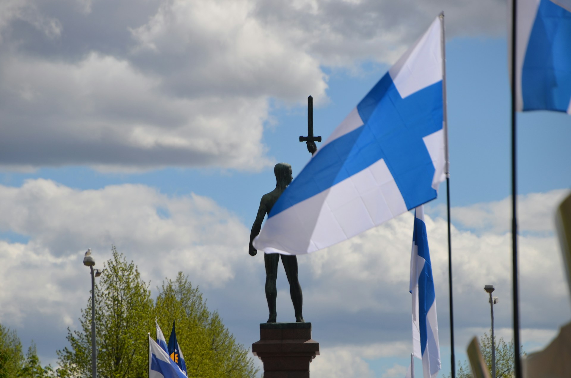
{"label": "large blue and white flag billowing in front of the statue", "polygon": [[435,199],[445,179],[438,17],[333,131],[272,207],[258,250],[307,254]]}

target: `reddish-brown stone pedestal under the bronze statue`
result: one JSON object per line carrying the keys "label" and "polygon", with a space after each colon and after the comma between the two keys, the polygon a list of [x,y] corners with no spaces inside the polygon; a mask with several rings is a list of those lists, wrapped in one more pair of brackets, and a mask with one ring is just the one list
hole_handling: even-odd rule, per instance
{"label": "reddish-brown stone pedestal under the bronze statue", "polygon": [[264,378],[309,378],[319,343],[311,339],[311,323],[262,323],[252,352],[264,363]]}

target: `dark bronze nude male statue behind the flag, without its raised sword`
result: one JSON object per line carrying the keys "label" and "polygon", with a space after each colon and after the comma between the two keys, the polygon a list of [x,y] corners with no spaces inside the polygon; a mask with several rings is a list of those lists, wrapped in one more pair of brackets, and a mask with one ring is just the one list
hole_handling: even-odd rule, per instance
{"label": "dark bronze nude male statue behind the flag, without its raised sword", "polygon": [[[286,187],[291,183],[292,171],[291,166],[286,163],[278,163],[274,167],[274,174],[276,175],[276,188],[271,192],[264,194],[260,200],[260,208],[254,225],[252,225],[252,232],[250,233],[250,248],[248,253],[255,256],[258,251],[252,245],[252,240],[260,233],[262,222],[266,214],[270,214],[272,207],[282,195]],[[297,279],[297,256],[288,256],[280,254],[264,254],[264,263],[266,264],[266,299],[268,300],[268,309],[270,309],[270,318],[267,323],[276,323],[276,278],[278,278],[278,263],[282,256],[282,263],[286,270],[287,280],[289,282],[289,294],[293,302],[293,309],[295,310],[295,321],[304,322],[301,315],[301,307],[303,306],[303,296],[301,294],[301,286]]]}

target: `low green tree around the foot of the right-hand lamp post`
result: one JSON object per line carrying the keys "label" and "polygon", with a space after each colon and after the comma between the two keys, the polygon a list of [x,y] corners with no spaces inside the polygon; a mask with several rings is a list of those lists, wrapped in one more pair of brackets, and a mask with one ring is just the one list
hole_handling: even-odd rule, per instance
{"label": "low green tree around the foot of the right-hand lamp post", "polygon": [[[514,367],[514,353],[513,353],[513,340],[506,343],[503,337],[498,340],[496,337],[496,378],[512,378],[515,375]],[[484,336],[480,337],[480,351],[490,375],[492,373],[492,335],[484,332]],[[524,356],[525,352],[521,352]],[[451,375],[450,375],[451,376]],[[467,361],[461,364],[458,361],[458,371],[456,372],[458,378],[472,378],[472,369]],[[494,378],[494,377],[492,377]]]}

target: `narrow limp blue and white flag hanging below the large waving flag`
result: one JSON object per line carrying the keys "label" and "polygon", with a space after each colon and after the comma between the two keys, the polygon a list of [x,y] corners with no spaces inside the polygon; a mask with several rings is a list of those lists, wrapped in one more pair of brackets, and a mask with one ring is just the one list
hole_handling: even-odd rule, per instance
{"label": "narrow limp blue and white flag hanging below the large waving flag", "polygon": [[423,360],[424,378],[436,377],[440,364],[436,295],[432,266],[428,252],[424,206],[415,210],[412,234],[411,285],[412,293],[412,354]]}

